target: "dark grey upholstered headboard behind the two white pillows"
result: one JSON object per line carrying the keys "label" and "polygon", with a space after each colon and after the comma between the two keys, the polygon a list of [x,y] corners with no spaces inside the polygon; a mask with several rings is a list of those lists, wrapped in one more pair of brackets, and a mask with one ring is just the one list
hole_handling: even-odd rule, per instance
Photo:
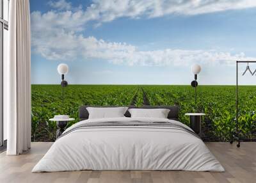
{"label": "dark grey upholstered headboard behind the two white pillows", "polygon": [[[86,107],[118,107],[118,106],[80,106],[79,107],[79,119],[80,121],[82,120],[87,120],[89,117],[89,113],[86,109]],[[170,112],[168,113],[167,118],[170,120],[179,120],[179,106],[141,106],[141,107],[136,107],[136,106],[127,106],[129,109],[131,108],[139,108],[139,109],[170,109]],[[126,113],[124,114],[126,117],[131,117],[131,114],[127,110]]]}

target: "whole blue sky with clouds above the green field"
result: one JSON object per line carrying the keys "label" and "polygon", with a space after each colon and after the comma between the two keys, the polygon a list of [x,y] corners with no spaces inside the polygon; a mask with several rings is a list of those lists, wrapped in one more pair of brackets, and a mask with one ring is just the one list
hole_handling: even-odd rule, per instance
{"label": "whole blue sky with clouds above the green field", "polygon": [[70,84],[189,84],[198,63],[200,84],[235,84],[235,61],[256,60],[256,2],[135,2],[31,0],[31,82],[67,63]]}

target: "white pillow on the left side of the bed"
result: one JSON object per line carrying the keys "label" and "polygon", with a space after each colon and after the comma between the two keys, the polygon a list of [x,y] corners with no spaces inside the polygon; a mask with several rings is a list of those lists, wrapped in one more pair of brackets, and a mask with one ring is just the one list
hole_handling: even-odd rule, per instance
{"label": "white pillow on the left side of the bed", "polygon": [[89,119],[124,117],[128,107],[86,107]]}

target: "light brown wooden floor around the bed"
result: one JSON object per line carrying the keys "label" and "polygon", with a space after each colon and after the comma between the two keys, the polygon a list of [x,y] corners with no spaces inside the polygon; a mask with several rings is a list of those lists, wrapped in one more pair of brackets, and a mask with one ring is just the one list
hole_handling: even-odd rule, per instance
{"label": "light brown wooden floor around the bed", "polygon": [[52,143],[32,143],[31,150],[18,156],[0,154],[0,182],[256,182],[256,143],[206,143],[224,166],[225,172],[195,171],[65,171],[31,173]]}

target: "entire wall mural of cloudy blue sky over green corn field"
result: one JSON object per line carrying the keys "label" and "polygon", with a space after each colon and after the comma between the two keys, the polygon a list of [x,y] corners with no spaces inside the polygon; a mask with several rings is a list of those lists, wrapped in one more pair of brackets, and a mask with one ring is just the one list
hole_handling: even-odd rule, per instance
{"label": "entire wall mural of cloudy blue sky over green corn field", "polygon": [[[32,140],[54,141],[78,107],[179,105],[201,112],[205,141],[229,141],[236,120],[236,60],[256,60],[256,2],[30,1]],[[68,65],[62,104],[60,63]],[[198,74],[197,103],[191,65]],[[251,64],[252,72],[256,64]],[[256,139],[256,80],[239,66],[239,129]]]}

